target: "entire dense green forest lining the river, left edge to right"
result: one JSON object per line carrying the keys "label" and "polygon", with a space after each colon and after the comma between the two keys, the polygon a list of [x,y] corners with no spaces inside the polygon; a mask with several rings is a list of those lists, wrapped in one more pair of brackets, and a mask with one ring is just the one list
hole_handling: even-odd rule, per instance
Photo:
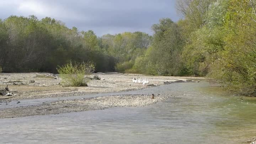
{"label": "entire dense green forest lining the river, left edge to right", "polygon": [[36,16],[0,20],[0,69],[48,71],[71,62],[97,71],[207,76],[256,96],[256,0],[177,0],[182,18],[162,18],[153,36],[123,32],[97,37]]}

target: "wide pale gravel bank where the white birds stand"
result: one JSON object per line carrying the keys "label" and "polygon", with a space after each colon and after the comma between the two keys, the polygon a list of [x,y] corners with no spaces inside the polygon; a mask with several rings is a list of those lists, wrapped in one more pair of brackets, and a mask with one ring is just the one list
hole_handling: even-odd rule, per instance
{"label": "wide pale gravel bank where the white birds stand", "polygon": [[[46,97],[77,96],[95,93],[139,90],[163,85],[165,81],[204,79],[198,77],[145,76],[140,74],[108,73],[98,75],[101,80],[90,80],[87,87],[62,87],[61,79],[47,73],[1,73],[0,89],[8,85],[10,92],[17,96],[0,96],[0,100],[21,100]],[[93,78],[94,75],[86,75]],[[149,78],[149,85],[132,82],[132,78]],[[33,80],[33,83],[30,81]],[[18,82],[12,82],[18,81]]]}

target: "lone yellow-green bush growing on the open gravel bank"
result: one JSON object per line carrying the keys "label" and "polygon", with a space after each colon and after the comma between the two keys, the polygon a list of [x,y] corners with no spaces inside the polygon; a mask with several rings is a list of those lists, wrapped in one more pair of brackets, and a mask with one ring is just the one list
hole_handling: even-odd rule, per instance
{"label": "lone yellow-green bush growing on the open gravel bank", "polygon": [[91,74],[94,71],[94,65],[91,63],[72,62],[64,66],[58,66],[58,73],[62,78],[61,84],[64,86],[87,86],[88,80],[84,78],[85,74]]}

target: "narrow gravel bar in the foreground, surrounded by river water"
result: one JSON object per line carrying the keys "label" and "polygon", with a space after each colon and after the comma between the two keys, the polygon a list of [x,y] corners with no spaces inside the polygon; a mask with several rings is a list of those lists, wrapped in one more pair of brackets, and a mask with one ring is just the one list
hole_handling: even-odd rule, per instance
{"label": "narrow gravel bar in the foreground, surrounded by river water", "polygon": [[102,96],[82,100],[68,100],[52,102],[38,106],[6,108],[0,111],[0,118],[25,117],[35,115],[58,114],[88,110],[101,110],[111,107],[142,107],[160,101],[165,101],[170,96],[157,95],[117,95]]}

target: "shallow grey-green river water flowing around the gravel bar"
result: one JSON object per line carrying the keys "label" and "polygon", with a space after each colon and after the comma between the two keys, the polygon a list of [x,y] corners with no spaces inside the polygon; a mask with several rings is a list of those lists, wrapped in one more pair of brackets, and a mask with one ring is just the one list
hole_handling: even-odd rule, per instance
{"label": "shallow grey-green river water flowing around the gravel bar", "polygon": [[241,144],[256,136],[256,99],[223,94],[208,82],[116,94],[152,93],[175,97],[146,107],[0,119],[0,143]]}

